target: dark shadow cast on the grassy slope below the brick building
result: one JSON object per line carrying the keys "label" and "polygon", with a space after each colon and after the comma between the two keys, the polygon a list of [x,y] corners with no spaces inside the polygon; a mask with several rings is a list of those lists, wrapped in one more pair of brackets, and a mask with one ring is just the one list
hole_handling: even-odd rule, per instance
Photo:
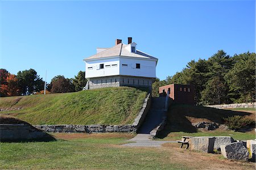
{"label": "dark shadow cast on the grassy slope below the brick building", "polygon": [[232,117],[234,115],[245,116],[250,115],[250,113],[204,106],[172,104],[167,112],[167,125],[164,127],[164,130],[159,132],[158,138],[163,139],[170,134],[170,132],[197,132],[197,128],[192,125],[189,119],[195,119],[195,121],[198,121],[198,119],[201,119],[202,121],[208,120],[223,124],[224,118]]}

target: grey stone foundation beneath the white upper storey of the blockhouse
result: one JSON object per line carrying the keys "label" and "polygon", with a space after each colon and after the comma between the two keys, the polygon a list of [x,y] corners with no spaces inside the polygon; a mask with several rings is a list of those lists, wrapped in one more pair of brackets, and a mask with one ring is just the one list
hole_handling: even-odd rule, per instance
{"label": "grey stone foundation beneath the white upper storey of the blockhouse", "polygon": [[147,77],[133,77],[133,76],[109,76],[96,77],[89,79],[89,89],[131,86],[131,87],[145,87],[150,88],[154,78]]}

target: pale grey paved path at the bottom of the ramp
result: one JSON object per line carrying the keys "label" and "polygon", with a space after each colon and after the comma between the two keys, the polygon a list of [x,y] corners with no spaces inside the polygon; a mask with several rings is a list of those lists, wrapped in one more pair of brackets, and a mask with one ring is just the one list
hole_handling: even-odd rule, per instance
{"label": "pale grey paved path at the bottom of the ramp", "polygon": [[150,139],[150,134],[137,134],[134,138],[127,140],[134,143],[126,143],[128,147],[161,147],[164,143],[176,143],[176,141],[158,141]]}

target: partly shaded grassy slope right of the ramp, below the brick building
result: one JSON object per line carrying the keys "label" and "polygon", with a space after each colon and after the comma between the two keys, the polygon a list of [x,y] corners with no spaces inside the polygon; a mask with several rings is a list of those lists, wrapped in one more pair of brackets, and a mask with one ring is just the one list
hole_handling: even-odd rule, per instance
{"label": "partly shaded grassy slope right of the ramp, below the brick building", "polygon": [[254,129],[246,132],[224,130],[197,130],[192,123],[216,122],[223,124],[223,118],[241,115],[255,120],[255,109],[214,109],[203,106],[171,105],[167,113],[167,126],[159,134],[159,139],[180,140],[181,136],[232,136],[236,140],[255,139]]}

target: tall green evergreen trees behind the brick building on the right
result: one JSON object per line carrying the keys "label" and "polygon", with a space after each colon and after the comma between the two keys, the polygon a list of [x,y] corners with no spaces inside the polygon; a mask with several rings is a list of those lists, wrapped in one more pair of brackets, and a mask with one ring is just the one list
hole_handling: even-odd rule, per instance
{"label": "tall green evergreen trees behind the brick building on the right", "polygon": [[192,60],[181,72],[154,82],[152,96],[172,83],[194,85],[197,105],[255,102],[255,53],[232,57],[220,50],[208,60]]}

